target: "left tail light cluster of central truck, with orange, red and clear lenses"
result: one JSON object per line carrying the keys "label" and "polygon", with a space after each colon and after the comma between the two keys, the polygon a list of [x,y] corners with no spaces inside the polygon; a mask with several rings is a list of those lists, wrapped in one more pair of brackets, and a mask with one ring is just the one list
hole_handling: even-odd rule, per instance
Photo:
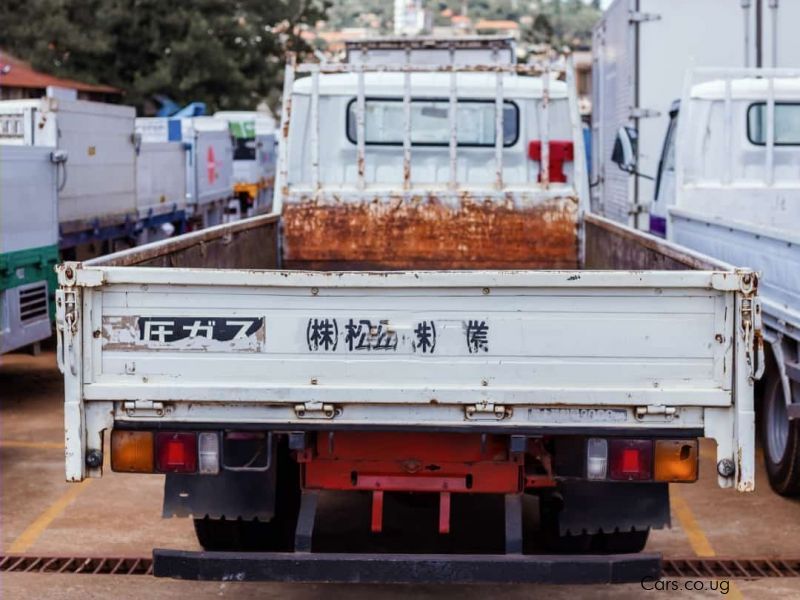
{"label": "left tail light cluster of central truck, with orange, red and clear lenses", "polygon": [[111,432],[111,469],[123,473],[219,473],[219,435],[213,431]]}

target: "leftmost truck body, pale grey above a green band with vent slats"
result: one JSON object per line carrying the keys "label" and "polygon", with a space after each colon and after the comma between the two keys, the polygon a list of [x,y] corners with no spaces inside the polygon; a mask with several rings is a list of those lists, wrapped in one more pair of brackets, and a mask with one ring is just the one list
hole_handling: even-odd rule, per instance
{"label": "leftmost truck body, pale grey above a green band with vent slats", "polygon": [[0,144],[0,354],[30,345],[38,351],[52,333],[58,263],[52,158],[49,148]]}

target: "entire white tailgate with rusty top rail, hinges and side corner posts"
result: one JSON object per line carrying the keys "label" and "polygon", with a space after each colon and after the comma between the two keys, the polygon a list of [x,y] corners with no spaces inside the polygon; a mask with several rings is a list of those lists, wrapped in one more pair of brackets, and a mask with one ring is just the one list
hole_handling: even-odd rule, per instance
{"label": "entire white tailgate with rusty top rail, hinges and side corner posts", "polygon": [[[59,276],[70,478],[85,467],[82,429],[69,423],[86,410],[105,415],[103,427],[590,431],[703,429],[704,409],[718,407],[730,444],[735,389],[749,376],[746,349],[734,352],[749,273],[66,263]],[[737,412],[752,411],[750,398]]]}

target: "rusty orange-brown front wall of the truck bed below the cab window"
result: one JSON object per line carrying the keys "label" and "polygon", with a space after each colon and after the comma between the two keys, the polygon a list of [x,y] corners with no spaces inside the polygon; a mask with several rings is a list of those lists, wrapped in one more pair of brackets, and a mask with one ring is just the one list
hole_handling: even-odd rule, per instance
{"label": "rusty orange-brown front wall of the truck bed below the cab window", "polygon": [[508,197],[305,198],[284,205],[283,229],[289,269],[578,267],[578,205],[569,197],[526,207]]}

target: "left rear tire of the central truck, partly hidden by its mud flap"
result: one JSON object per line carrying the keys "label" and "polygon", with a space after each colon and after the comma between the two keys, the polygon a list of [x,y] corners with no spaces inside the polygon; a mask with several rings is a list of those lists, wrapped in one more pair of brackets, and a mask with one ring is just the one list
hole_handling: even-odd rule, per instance
{"label": "left rear tire of the central truck, partly hidden by its mud flap", "polygon": [[[285,445],[276,448],[275,516],[269,522],[242,519],[194,520],[198,543],[209,551],[288,552],[300,510],[300,468]],[[263,477],[254,473],[254,477]]]}

